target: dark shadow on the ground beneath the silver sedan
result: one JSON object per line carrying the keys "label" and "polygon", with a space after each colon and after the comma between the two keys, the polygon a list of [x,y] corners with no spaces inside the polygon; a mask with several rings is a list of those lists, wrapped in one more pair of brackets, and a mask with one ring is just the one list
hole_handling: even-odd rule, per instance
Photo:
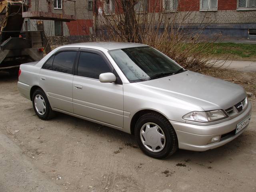
{"label": "dark shadow on the ground beneath the silver sedan", "polygon": [[[61,113],[58,113],[58,116],[53,120],[58,120],[68,124],[74,123],[77,125],[76,129],[84,132],[84,134],[86,134],[86,128],[89,128],[91,136],[98,136],[100,134],[100,136],[110,138],[113,142],[119,142],[120,144],[118,145],[120,147],[128,146],[134,148],[134,152],[142,153],[136,144],[134,135]],[[204,152],[179,149],[175,154],[164,160],[175,163],[180,162],[184,165],[193,163],[198,164],[198,166],[205,166],[204,164],[212,162],[228,162],[232,158],[231,156],[234,157],[234,154],[237,156],[243,154],[244,150],[250,146],[250,140],[253,140],[253,137],[254,136],[252,134],[246,134],[245,131],[238,138],[224,146]],[[154,159],[152,158],[152,160]]]}

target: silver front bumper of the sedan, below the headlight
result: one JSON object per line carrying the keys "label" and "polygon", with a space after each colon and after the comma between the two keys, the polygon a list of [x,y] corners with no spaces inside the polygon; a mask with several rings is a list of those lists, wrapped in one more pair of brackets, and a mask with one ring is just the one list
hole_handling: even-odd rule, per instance
{"label": "silver front bumper of the sedan, below the headlight", "polygon": [[[206,151],[222,146],[242,134],[248,125],[238,134],[234,133],[236,126],[251,114],[251,108],[252,106],[250,102],[248,102],[248,107],[240,115],[233,119],[208,126],[199,126],[176,121],[170,121],[170,123],[176,131],[180,149]],[[222,135],[219,142],[210,143],[214,136],[219,135]]]}

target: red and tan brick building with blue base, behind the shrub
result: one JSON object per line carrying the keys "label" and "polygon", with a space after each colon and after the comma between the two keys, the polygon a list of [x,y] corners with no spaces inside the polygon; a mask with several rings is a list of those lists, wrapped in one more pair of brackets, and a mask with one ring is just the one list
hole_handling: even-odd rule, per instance
{"label": "red and tan brick building with blue base, behind the shrub", "polygon": [[[95,7],[97,30],[97,20],[118,12],[120,5],[118,0],[96,0]],[[190,12],[186,18],[189,24],[182,27],[197,30],[208,23],[203,32],[206,38],[221,34],[226,39],[256,39],[256,0],[140,0],[135,11],[146,12],[149,17],[160,12],[169,18],[176,15],[177,23]]]}

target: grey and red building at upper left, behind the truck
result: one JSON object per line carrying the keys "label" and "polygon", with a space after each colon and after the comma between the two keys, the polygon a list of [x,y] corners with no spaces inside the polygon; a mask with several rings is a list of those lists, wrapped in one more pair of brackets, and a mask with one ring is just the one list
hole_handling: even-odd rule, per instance
{"label": "grey and red building at upper left, behind the truck", "polygon": [[88,36],[93,26],[92,0],[27,0],[24,30],[37,30],[43,20],[48,36]]}

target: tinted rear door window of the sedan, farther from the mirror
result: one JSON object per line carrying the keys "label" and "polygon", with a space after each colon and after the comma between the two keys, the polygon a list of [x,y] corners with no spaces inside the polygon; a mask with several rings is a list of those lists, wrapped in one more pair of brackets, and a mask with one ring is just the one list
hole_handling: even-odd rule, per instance
{"label": "tinted rear door window of the sedan, farther from the mirror", "polygon": [[76,51],[63,51],[54,56],[52,70],[62,73],[72,74]]}

